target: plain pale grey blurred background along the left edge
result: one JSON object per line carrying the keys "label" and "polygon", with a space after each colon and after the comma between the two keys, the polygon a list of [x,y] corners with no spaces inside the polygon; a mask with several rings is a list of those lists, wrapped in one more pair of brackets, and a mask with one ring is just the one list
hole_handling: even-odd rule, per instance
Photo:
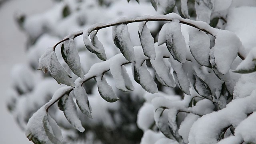
{"label": "plain pale grey blurred background along the left edge", "polygon": [[51,5],[52,0],[8,0],[0,6],[0,144],[32,144],[6,109],[10,70],[14,64],[26,62],[26,35],[14,23],[14,14],[34,14]]}

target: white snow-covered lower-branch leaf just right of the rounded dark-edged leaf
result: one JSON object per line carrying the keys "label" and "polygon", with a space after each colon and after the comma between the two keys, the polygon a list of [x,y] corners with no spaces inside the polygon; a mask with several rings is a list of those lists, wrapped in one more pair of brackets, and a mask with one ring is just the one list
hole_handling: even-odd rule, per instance
{"label": "white snow-covered lower-branch leaf just right of the rounded dark-edged leaf", "polygon": [[116,65],[115,63],[110,64],[110,72],[114,78],[114,82],[116,85],[116,88],[119,90],[122,90],[124,92],[128,92],[128,89],[126,88],[122,68],[119,65]]}

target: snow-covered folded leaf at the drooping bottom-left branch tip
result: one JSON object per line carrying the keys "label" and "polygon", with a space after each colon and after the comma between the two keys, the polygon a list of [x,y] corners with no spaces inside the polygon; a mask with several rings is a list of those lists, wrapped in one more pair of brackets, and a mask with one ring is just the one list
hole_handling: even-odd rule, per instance
{"label": "snow-covered folded leaf at the drooping bottom-left branch tip", "polygon": [[59,126],[47,114],[44,106],[29,119],[26,137],[34,144],[61,144],[62,140]]}

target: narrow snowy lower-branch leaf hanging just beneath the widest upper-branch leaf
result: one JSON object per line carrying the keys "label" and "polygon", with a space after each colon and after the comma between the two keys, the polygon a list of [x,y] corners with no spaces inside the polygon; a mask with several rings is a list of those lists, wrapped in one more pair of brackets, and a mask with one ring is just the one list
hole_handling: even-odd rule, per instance
{"label": "narrow snowy lower-branch leaf hanging just beneath the widest upper-branch leaf", "polygon": [[185,94],[190,95],[190,91],[189,91],[190,82],[187,74],[184,72],[182,68],[182,64],[172,58],[170,58],[169,60],[174,70],[174,75],[177,76],[175,79],[178,81],[180,89]]}

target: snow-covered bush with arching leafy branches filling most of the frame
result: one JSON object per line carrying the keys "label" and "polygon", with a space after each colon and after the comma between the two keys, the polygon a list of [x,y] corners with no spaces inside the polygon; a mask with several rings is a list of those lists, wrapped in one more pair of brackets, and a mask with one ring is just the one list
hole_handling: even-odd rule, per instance
{"label": "snow-covered bush with arching leafy branches filling most of the frame", "polygon": [[67,0],[20,16],[29,66],[14,68],[8,108],[35,144],[256,143],[256,52],[229,22],[246,4]]}

